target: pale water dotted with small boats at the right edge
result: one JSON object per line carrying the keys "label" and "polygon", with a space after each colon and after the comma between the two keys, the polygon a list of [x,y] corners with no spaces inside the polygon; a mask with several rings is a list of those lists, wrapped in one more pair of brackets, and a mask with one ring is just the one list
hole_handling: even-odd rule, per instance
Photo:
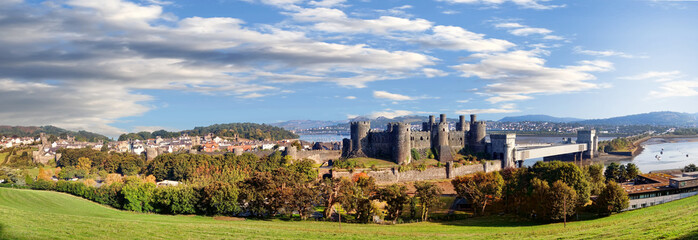
{"label": "pale water dotted with small boats at the right edge", "polygon": [[[645,150],[632,161],[621,161],[621,164],[634,163],[642,172],[656,170],[678,169],[688,164],[698,165],[698,142],[681,139],[674,143],[665,143],[663,139],[651,139],[643,146]],[[664,149],[662,154],[662,149]],[[686,157],[688,155],[688,157]],[[656,156],[661,156],[657,159]]]}

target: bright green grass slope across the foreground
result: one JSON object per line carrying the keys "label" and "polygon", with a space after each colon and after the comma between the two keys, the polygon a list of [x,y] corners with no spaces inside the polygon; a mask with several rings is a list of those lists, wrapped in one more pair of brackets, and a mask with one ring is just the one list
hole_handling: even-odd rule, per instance
{"label": "bright green grass slope across the foreground", "polygon": [[56,192],[0,188],[0,239],[694,239],[698,197],[584,222],[535,225],[507,217],[394,226],[219,221],[119,211]]}

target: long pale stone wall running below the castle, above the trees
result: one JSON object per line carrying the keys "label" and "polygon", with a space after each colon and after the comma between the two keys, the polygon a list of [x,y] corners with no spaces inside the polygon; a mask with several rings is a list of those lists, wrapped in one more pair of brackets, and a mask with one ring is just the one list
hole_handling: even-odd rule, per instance
{"label": "long pale stone wall running below the castle, above the trees", "polygon": [[[501,161],[487,161],[484,164],[460,166],[451,169],[451,178],[473,174],[476,172],[492,172],[502,169]],[[355,169],[353,173],[348,171],[332,171],[333,178],[351,178],[354,174],[366,172],[368,176],[376,179],[376,184],[392,184],[400,182],[414,182],[424,180],[448,179],[447,168],[427,168],[424,171],[410,170],[398,172],[397,168],[385,169],[379,171],[371,171],[370,169]]]}

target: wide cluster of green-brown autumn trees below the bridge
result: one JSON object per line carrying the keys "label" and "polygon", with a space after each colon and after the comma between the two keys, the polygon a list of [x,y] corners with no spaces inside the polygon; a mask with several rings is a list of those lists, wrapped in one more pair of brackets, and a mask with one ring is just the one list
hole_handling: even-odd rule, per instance
{"label": "wide cluster of green-brown autumn trees below the bridge", "polygon": [[560,161],[537,162],[529,168],[457,177],[452,184],[478,215],[496,206],[531,219],[561,221],[580,212],[611,214],[629,204],[623,188],[604,177],[603,165],[580,169]]}

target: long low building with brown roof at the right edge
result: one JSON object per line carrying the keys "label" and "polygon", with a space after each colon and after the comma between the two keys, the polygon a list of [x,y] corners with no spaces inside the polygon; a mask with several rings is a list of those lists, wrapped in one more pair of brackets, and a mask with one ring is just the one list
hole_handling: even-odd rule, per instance
{"label": "long low building with brown roof at the right edge", "polygon": [[681,176],[665,173],[641,174],[634,182],[621,185],[630,199],[630,206],[625,210],[654,206],[698,195],[696,176],[698,174],[695,173],[683,173]]}

